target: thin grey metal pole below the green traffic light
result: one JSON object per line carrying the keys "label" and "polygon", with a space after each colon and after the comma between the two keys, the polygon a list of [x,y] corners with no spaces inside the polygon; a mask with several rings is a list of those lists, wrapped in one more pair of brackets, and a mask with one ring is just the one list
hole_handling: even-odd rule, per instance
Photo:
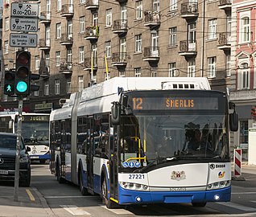
{"label": "thin grey metal pole below the green traffic light", "polygon": [[20,143],[22,132],[22,116],[23,116],[23,96],[19,96],[19,117],[17,127],[17,142],[16,142],[16,158],[15,158],[15,178],[14,178],[14,201],[19,200],[19,158],[20,158]]}

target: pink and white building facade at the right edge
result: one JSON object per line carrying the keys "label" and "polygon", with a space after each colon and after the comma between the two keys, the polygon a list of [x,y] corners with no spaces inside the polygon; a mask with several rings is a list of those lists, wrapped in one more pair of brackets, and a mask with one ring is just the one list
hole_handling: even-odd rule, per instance
{"label": "pink and white building facade at the right edge", "polygon": [[235,133],[234,145],[244,149],[247,158],[248,130],[256,127],[256,118],[251,110],[256,106],[256,3],[233,1],[232,19],[233,46],[231,78],[231,100],[236,103],[239,114],[239,129]]}

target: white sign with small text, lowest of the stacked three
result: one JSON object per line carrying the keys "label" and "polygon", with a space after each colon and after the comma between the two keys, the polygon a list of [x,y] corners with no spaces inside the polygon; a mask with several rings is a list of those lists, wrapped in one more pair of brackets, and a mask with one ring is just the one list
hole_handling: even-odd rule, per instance
{"label": "white sign with small text, lowest of the stacked three", "polygon": [[36,47],[37,34],[10,33],[10,47]]}

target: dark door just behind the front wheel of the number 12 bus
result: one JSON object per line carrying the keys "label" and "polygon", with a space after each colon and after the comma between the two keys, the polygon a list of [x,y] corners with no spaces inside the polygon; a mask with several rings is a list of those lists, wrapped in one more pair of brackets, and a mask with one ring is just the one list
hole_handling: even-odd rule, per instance
{"label": "dark door just behind the front wheel of the number 12 bus", "polygon": [[93,190],[93,148],[94,148],[94,119],[89,118],[88,144],[86,150],[87,165],[87,185],[89,190]]}

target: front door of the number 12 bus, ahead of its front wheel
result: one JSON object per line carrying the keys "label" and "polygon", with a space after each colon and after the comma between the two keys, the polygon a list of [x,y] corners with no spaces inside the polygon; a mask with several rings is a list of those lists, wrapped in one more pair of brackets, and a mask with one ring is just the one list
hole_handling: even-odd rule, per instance
{"label": "front door of the number 12 bus, ahead of its front wheel", "polygon": [[[117,132],[117,126],[114,127]],[[109,181],[110,197],[118,199],[118,140],[117,133],[109,137]]]}

